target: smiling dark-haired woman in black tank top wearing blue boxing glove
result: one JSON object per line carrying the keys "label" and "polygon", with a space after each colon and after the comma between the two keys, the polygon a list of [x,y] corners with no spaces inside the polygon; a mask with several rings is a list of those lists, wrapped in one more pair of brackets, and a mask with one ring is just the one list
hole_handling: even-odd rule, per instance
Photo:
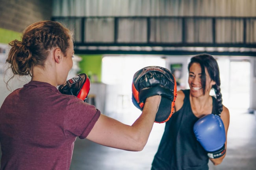
{"label": "smiling dark-haired woman in black tank top wearing blue boxing glove", "polygon": [[[177,91],[152,170],[208,170],[209,159],[219,165],[226,155],[229,111],[222,104],[217,61],[196,55],[188,71],[190,89]],[[216,97],[210,95],[212,88]]]}

